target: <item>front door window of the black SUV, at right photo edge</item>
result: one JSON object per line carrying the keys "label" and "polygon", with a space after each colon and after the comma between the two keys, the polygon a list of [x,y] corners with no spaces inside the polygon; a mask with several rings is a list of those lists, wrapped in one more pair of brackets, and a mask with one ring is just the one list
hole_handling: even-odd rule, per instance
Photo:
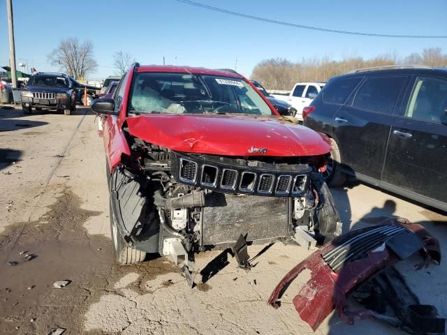
{"label": "front door window of the black SUV, at right photo edge", "polygon": [[432,122],[447,121],[447,81],[416,77],[405,117]]}

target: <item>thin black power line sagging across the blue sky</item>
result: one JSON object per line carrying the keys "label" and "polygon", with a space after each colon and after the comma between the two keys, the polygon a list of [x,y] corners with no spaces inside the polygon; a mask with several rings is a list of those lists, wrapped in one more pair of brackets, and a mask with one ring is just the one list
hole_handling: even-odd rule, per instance
{"label": "thin black power line sagging across the blue sky", "polygon": [[439,35],[439,36],[436,36],[436,35],[434,35],[434,36],[433,35],[391,35],[391,34],[361,33],[359,31],[344,31],[344,30],[337,30],[337,29],[325,29],[325,28],[319,28],[319,27],[305,26],[304,24],[295,24],[295,23],[290,23],[290,22],[271,20],[271,19],[266,19],[265,17],[258,17],[258,16],[254,16],[254,15],[244,14],[244,13],[237,13],[237,12],[233,12],[231,10],[207,6],[203,3],[198,3],[198,2],[189,1],[189,0],[176,0],[176,1],[186,3],[191,6],[197,6],[197,7],[205,8],[208,10],[214,10],[214,11],[220,12],[220,13],[225,13],[225,14],[235,15],[235,16],[240,16],[240,17],[246,17],[247,19],[251,19],[251,20],[258,20],[258,21],[269,22],[269,23],[274,23],[274,24],[281,24],[283,26],[294,27],[294,28],[325,31],[327,33],[361,35],[361,36],[376,36],[376,37],[391,37],[391,38],[447,38],[446,35]]}

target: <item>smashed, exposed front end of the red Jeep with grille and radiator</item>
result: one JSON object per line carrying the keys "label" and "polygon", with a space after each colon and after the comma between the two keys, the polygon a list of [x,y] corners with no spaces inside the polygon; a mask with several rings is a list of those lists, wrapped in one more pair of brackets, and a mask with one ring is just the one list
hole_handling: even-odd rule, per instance
{"label": "smashed, exposed front end of the red Jeep with grille and radiator", "polygon": [[314,157],[191,154],[126,137],[131,155],[113,170],[110,191],[117,231],[131,248],[170,255],[191,274],[200,251],[341,234]]}

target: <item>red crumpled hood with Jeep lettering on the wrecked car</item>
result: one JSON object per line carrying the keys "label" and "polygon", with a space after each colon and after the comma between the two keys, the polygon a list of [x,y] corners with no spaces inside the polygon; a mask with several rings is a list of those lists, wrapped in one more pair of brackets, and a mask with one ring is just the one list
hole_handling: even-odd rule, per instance
{"label": "red crumpled hood with Jeep lettering on the wrecked car", "polygon": [[281,117],[147,114],[126,118],[129,133],[175,151],[224,156],[316,156],[330,142],[310,128]]}

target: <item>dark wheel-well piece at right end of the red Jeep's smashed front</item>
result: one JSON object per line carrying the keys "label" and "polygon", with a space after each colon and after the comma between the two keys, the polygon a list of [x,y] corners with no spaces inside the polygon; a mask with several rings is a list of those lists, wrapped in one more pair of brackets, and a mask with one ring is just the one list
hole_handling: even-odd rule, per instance
{"label": "dark wheel-well piece at right end of the red Jeep's smashed front", "polygon": [[319,199],[318,206],[314,210],[314,224],[319,236],[317,241],[325,244],[342,234],[342,221],[335,207],[328,184],[325,181],[321,181],[315,186]]}

